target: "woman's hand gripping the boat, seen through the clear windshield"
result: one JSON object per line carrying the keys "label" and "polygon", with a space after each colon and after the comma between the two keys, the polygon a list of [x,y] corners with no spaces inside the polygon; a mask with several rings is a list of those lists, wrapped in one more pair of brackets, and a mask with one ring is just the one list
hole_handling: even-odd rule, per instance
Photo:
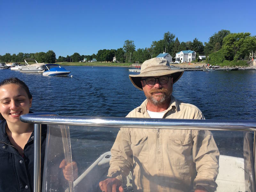
{"label": "woman's hand gripping the boat, seen through the clear windshield", "polygon": [[78,177],[78,168],[76,165],[76,162],[72,162],[67,164],[67,162],[65,161],[65,159],[63,159],[60,163],[60,168],[62,168],[63,171],[63,175],[65,177],[66,180],[68,181],[72,181],[72,167],[73,167],[73,179],[76,180]]}

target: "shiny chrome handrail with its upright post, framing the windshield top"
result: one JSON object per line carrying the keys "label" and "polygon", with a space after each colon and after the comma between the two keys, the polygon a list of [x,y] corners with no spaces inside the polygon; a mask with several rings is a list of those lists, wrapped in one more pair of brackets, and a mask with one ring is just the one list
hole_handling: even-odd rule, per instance
{"label": "shiny chrome handrail with its upright post, framing the windshield top", "polygon": [[[40,124],[84,125],[127,128],[162,128],[211,131],[253,131],[256,120],[191,120],[191,119],[154,119],[125,117],[56,116],[54,113],[30,113],[21,115],[24,123],[34,123],[34,192],[40,192],[41,167],[41,126]],[[255,140],[254,140],[255,145]],[[255,149],[255,148],[254,148]],[[254,151],[255,153],[255,151]],[[254,155],[255,159],[255,155]],[[255,162],[256,164],[256,162]]]}

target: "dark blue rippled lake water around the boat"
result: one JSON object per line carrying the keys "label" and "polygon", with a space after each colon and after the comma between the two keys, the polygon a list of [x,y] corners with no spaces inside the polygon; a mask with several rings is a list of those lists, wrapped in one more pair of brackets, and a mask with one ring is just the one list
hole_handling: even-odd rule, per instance
{"label": "dark blue rippled lake water around the boat", "polygon": [[[0,70],[0,81],[9,77],[23,80],[33,96],[33,112],[124,117],[145,99],[144,93],[130,82],[128,75],[134,73],[129,72],[129,68],[65,68],[71,71],[70,75],[73,77],[43,76],[3,69]],[[184,102],[196,105],[206,119],[255,120],[256,70],[185,71],[180,80],[173,85],[173,95]],[[86,153],[86,157],[78,157],[78,161],[91,164],[93,159],[111,148],[116,133],[116,129],[93,128],[83,133],[79,129],[74,129],[71,132],[74,140],[84,138],[84,142],[74,144],[72,148]],[[238,134],[234,139],[233,133],[226,132],[224,140],[223,133],[213,134],[222,154],[228,153],[225,148],[233,147],[234,151],[237,151],[237,156],[242,156],[243,134]]]}

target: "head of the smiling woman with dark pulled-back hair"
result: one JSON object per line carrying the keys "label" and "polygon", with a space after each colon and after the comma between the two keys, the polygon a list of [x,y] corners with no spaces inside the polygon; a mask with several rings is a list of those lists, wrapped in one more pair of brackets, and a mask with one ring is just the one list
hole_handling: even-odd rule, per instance
{"label": "head of the smiling woman with dark pulled-back hair", "polygon": [[7,122],[20,123],[20,115],[29,113],[32,99],[18,84],[5,84],[0,87],[0,113]]}

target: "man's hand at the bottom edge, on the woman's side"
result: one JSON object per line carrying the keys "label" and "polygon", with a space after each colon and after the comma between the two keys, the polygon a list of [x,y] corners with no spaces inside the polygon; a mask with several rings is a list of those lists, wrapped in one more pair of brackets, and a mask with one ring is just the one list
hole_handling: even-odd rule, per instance
{"label": "man's hand at the bottom edge, on the woman's side", "polygon": [[124,192],[122,182],[116,178],[108,178],[100,181],[100,190],[104,192]]}

